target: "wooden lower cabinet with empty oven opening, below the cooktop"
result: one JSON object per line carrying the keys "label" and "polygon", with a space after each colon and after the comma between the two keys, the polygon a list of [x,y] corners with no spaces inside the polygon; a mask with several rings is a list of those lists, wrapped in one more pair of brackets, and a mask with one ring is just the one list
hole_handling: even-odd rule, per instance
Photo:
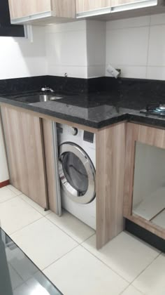
{"label": "wooden lower cabinet with empty oven opening, below the cooktop", "polygon": [[165,239],[165,130],[127,124],[124,217]]}

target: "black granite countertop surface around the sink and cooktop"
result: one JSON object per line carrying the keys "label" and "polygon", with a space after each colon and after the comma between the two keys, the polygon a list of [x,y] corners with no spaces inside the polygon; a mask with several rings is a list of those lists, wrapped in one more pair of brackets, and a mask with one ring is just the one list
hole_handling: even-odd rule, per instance
{"label": "black granite countertop surface around the sink and cooktop", "polygon": [[[165,103],[163,93],[141,91],[139,87],[125,85],[111,91],[98,91],[95,93],[57,93],[64,98],[55,101],[31,103],[30,96],[35,93],[15,93],[7,95],[0,93],[0,103],[7,103],[27,110],[47,114],[55,118],[90,126],[99,129],[110,124],[128,120],[141,124],[165,127],[165,118],[155,115],[141,114],[148,103]],[[26,100],[24,100],[26,96]],[[29,96],[29,99],[27,97]]]}

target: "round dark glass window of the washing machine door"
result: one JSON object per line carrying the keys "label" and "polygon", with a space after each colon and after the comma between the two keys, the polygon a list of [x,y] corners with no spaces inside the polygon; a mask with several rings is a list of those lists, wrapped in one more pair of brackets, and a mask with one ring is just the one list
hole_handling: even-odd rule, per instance
{"label": "round dark glass window of the washing machine door", "polygon": [[78,190],[79,196],[85,195],[88,188],[88,177],[80,159],[73,152],[66,152],[62,159],[62,166],[69,184]]}

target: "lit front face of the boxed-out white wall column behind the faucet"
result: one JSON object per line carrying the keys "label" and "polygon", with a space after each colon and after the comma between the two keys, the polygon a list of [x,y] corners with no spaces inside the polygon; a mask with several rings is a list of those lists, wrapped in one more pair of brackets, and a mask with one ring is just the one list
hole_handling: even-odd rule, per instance
{"label": "lit front face of the boxed-out white wall column behind the faucet", "polygon": [[48,74],[87,78],[86,22],[46,27]]}

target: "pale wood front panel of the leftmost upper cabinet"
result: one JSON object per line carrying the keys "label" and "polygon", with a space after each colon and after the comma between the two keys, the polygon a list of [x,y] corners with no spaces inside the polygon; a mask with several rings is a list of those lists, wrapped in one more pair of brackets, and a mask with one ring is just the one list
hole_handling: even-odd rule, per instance
{"label": "pale wood front panel of the leftmost upper cabinet", "polygon": [[50,0],[9,0],[10,18],[23,18],[51,11]]}

